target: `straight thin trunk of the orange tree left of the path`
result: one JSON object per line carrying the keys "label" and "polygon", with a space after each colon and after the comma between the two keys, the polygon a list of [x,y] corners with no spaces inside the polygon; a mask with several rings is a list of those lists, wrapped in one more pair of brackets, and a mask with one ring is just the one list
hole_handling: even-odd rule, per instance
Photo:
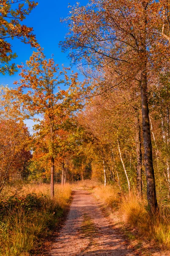
{"label": "straight thin trunk of the orange tree left of the path", "polygon": [[51,134],[51,198],[54,198],[54,157],[53,157],[53,144],[54,144],[54,117],[50,117],[50,134]]}

